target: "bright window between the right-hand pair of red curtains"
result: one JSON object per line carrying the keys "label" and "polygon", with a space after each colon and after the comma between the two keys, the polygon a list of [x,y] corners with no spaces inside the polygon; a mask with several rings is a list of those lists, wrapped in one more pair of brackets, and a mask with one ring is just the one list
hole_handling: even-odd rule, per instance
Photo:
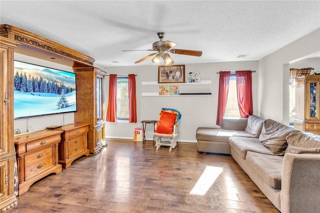
{"label": "bright window between the right-hand pair of red curtains", "polygon": [[235,73],[230,74],[229,91],[226,101],[226,107],[223,117],[240,117],[237,94]]}

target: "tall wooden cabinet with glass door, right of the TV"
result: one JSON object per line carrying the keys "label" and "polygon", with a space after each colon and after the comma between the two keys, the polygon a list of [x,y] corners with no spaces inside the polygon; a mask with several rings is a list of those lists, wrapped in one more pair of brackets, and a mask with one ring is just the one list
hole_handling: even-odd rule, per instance
{"label": "tall wooden cabinet with glass door, right of the TV", "polygon": [[[76,105],[74,122],[89,123],[88,149],[97,154],[106,145],[104,139],[104,76],[96,67],[73,67],[76,74]],[[93,94],[93,95],[92,95]]]}

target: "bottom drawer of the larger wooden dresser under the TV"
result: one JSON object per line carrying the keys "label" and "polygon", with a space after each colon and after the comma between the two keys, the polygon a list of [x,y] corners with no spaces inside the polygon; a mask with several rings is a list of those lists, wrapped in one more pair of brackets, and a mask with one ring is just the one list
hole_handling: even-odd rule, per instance
{"label": "bottom drawer of the larger wooden dresser under the TV", "polygon": [[41,172],[45,171],[48,168],[53,166],[52,157],[49,156],[47,158],[42,158],[39,161],[33,162],[25,167],[25,180],[40,174]]}

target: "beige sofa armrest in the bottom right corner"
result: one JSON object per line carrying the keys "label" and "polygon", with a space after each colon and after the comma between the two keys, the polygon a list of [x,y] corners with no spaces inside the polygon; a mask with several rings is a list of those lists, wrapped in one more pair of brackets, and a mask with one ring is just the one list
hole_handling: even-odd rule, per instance
{"label": "beige sofa armrest in the bottom right corner", "polygon": [[281,212],[319,212],[320,155],[287,153],[283,158]]}

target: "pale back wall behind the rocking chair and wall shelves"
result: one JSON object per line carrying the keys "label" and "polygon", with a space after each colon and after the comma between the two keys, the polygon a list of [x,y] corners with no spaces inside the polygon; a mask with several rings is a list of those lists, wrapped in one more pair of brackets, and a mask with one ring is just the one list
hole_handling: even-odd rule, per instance
{"label": "pale back wall behind the rocking chair and wall shelves", "polygon": [[[175,108],[182,114],[179,121],[178,141],[195,142],[198,126],[216,126],[216,110],[220,70],[257,70],[257,61],[216,62],[185,64],[185,73],[200,72],[201,80],[211,80],[212,84],[179,85],[180,92],[211,92],[206,96],[141,96],[141,92],[157,92],[158,85],[141,85],[142,81],[157,81],[157,65],[107,67],[108,74],[129,74],[136,76],[137,123],[107,122],[105,135],[113,138],[132,138],[134,127],[142,127],[141,120],[157,120],[161,107]],[[258,70],[257,70],[258,72]],[[257,73],[256,72],[256,73]],[[256,113],[257,84],[256,73],[252,73],[253,113]],[[187,76],[187,74],[186,74]],[[108,100],[108,80],[106,77],[105,100]],[[147,124],[146,138],[152,139],[153,125]]]}

